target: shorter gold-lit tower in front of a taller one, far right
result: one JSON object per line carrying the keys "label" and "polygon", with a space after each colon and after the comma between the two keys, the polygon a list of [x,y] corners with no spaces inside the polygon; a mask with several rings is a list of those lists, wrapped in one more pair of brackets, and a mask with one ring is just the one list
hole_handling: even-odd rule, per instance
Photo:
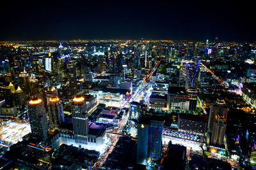
{"label": "shorter gold-lit tower in front of a taller one, far right", "polygon": [[213,122],[211,143],[214,145],[223,145],[224,136],[227,127],[227,117],[225,115],[216,114],[215,120]]}

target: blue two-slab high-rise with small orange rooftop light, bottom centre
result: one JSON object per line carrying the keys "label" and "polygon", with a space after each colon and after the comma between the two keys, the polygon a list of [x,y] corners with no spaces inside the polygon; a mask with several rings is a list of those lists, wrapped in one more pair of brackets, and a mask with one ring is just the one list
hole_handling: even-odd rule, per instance
{"label": "blue two-slab high-rise with small orange rooftop light, bottom centre", "polygon": [[147,164],[147,159],[160,159],[163,121],[141,118],[138,122],[137,163]]}

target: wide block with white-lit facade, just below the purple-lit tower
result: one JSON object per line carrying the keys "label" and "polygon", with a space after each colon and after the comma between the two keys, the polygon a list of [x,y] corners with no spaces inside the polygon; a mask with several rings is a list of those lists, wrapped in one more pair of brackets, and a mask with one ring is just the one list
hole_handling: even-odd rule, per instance
{"label": "wide block with white-lit facade, just below the purple-lit tower", "polygon": [[197,91],[183,87],[169,87],[167,96],[168,110],[196,110]]}

